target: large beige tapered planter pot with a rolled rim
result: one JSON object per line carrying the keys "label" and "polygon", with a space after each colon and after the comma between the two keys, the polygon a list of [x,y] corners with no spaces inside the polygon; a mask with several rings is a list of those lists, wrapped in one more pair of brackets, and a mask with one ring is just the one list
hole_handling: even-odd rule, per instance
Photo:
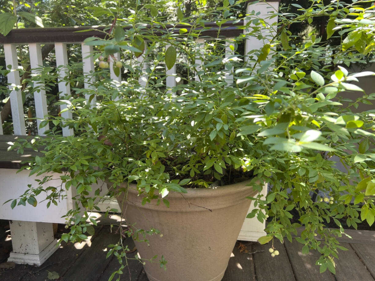
{"label": "large beige tapered planter pot with a rolled rim", "polygon": [[[250,181],[217,188],[188,189],[187,194],[170,192],[169,208],[157,200],[142,206],[135,185],[118,198],[129,225],[137,229],[154,227],[163,234],[147,236],[150,246],[135,241],[142,259],[158,255],[156,263],[146,262],[150,281],[220,281],[254,196]],[[127,184],[123,185],[126,187]],[[167,261],[166,271],[158,263]]]}

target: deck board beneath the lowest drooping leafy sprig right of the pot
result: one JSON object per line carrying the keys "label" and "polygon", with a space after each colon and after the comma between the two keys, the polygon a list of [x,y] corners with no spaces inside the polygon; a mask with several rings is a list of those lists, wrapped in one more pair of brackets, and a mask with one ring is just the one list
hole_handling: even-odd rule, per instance
{"label": "deck board beneath the lowest drooping leafy sprig right of the pot", "polygon": [[302,254],[303,245],[297,241],[285,241],[284,245],[297,281],[335,281],[335,277],[328,270],[320,274],[319,266],[315,265],[320,257],[317,251]]}

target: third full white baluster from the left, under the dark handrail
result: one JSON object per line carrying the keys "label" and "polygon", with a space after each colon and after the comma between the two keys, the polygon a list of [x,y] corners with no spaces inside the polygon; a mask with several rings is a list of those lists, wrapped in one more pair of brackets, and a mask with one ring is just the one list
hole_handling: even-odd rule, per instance
{"label": "third full white baluster from the left, under the dark handrail", "polygon": [[[68,76],[68,54],[66,52],[66,43],[55,43],[56,52],[56,66],[58,69],[58,91],[60,92],[60,99],[66,100],[71,96],[69,83],[64,81],[64,77]],[[65,109],[67,105],[60,105],[60,110]],[[72,118],[72,112],[65,111],[61,114],[66,119]],[[72,136],[73,129],[63,127],[63,136]]]}

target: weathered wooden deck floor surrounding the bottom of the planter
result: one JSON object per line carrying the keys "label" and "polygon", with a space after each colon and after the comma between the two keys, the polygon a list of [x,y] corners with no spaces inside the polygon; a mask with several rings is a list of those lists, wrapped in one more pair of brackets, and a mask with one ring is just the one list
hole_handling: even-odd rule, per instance
{"label": "weathered wooden deck floor surrounding the bottom of the planter", "polygon": [[[12,250],[7,221],[0,220],[0,263],[6,262]],[[65,230],[59,226],[57,235]],[[268,252],[270,245],[257,242],[237,241],[222,281],[374,281],[375,277],[375,233],[350,230],[353,241],[342,238],[340,245],[348,251],[340,251],[336,260],[336,275],[326,271],[319,273],[315,265],[319,254],[302,254],[302,244],[275,241],[280,255],[272,258]],[[107,245],[115,244],[118,235],[111,233],[110,226],[99,226],[89,242],[62,245],[42,266],[16,265],[10,269],[0,268],[1,281],[46,281],[48,272],[57,272],[57,280],[65,281],[107,281],[111,273],[119,267],[117,258],[106,259]],[[134,247],[129,239],[124,241],[129,248]],[[246,247],[240,252],[240,248]],[[129,254],[136,255],[136,251]],[[188,266],[188,265],[187,265]],[[117,275],[113,280],[117,279]],[[137,260],[129,260],[129,268],[124,269],[121,281],[148,281]],[[178,281],[178,280],[176,280]],[[192,280],[199,281],[199,280]]]}

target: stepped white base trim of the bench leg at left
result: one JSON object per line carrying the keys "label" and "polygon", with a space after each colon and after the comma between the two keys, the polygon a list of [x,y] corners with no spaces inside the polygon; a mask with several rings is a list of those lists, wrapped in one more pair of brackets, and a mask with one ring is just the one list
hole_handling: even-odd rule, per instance
{"label": "stepped white base trim of the bench leg at left", "polygon": [[40,266],[45,262],[52,254],[58,249],[56,247],[57,239],[52,241],[46,248],[44,248],[39,254],[23,254],[10,252],[8,262],[13,262],[23,265],[36,265]]}

